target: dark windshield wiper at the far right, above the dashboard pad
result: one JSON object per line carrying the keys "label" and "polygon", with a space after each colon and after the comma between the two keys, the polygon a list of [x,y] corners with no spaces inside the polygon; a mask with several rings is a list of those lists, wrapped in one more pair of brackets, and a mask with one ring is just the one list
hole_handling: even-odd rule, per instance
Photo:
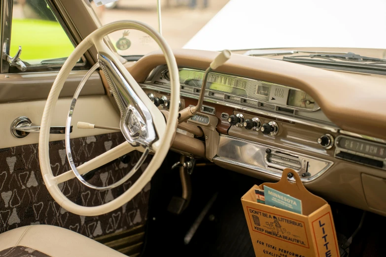
{"label": "dark windshield wiper at the far right, above the dashboard pad", "polygon": [[373,58],[373,57],[366,57],[361,55],[356,55],[354,53],[346,53],[346,54],[311,54],[311,55],[298,55],[298,56],[292,56],[292,57],[283,57],[283,60],[290,60],[290,59],[296,59],[296,58],[321,58],[321,59],[327,59],[329,61],[336,62],[333,59],[346,61],[346,62],[356,62],[356,63],[386,63],[385,59],[380,58]]}

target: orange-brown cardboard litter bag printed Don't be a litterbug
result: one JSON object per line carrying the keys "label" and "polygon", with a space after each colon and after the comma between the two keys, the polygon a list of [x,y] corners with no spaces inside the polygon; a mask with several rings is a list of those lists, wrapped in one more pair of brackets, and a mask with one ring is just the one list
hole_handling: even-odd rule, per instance
{"label": "orange-brown cardboard litter bag printed Don't be a litterbug", "polygon": [[[300,199],[303,214],[257,203],[254,189],[264,186]],[[241,201],[256,257],[339,257],[330,205],[308,192],[294,170],[284,169],[278,183],[255,185]]]}

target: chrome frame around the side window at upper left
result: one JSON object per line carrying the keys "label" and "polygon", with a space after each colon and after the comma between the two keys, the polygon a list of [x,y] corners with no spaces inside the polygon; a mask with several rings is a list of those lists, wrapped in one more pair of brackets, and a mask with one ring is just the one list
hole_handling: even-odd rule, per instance
{"label": "chrome frame around the side window at upper left", "polygon": [[[56,8],[52,0],[45,0],[50,6],[53,14],[58,20],[64,32],[69,37],[72,45],[77,46],[77,42],[70,32],[66,22],[64,21],[61,13]],[[39,72],[39,71],[54,71],[59,70],[63,63],[54,63],[54,64],[37,64],[27,66],[26,71],[21,71],[16,67],[10,66],[6,61],[6,56],[9,55],[10,42],[11,42],[11,31],[12,31],[12,9],[13,9],[13,0],[2,0],[1,3],[1,19],[0,19],[0,36],[1,36],[1,63],[0,63],[0,73],[24,73],[24,72]],[[23,48],[23,45],[21,45]],[[21,58],[23,61],[23,58]],[[90,62],[87,61],[86,57],[83,55],[81,57],[82,63],[75,64],[73,70],[82,70],[89,69]]]}

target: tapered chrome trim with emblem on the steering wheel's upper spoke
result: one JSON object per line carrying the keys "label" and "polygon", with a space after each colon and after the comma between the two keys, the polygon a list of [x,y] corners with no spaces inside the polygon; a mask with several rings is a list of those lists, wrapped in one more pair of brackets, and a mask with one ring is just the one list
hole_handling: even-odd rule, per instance
{"label": "tapered chrome trim with emblem on the steering wheel's upper spoke", "polygon": [[[120,127],[123,135],[131,144],[140,143],[149,147],[156,138],[150,111],[130,87],[115,64],[101,54],[98,54],[98,60],[121,112]],[[130,121],[130,125],[127,124],[128,121]],[[139,128],[137,128],[137,132],[133,132],[134,130],[128,126],[131,128],[139,126]]]}

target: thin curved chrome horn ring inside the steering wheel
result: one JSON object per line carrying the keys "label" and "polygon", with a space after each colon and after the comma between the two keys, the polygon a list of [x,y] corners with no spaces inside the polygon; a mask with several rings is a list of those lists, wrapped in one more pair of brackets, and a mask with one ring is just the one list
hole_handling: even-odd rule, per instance
{"label": "thin curved chrome horn ring inside the steering wheel", "polygon": [[76,178],[85,186],[89,187],[89,188],[92,188],[92,189],[96,189],[96,190],[108,190],[108,189],[113,189],[113,188],[116,188],[120,185],[122,185],[123,183],[125,183],[131,176],[134,175],[134,173],[136,173],[136,171],[140,168],[140,166],[143,164],[143,162],[145,161],[147,155],[149,154],[149,147],[146,147],[146,149],[144,150],[142,156],[140,157],[140,160],[137,162],[137,164],[120,180],[118,180],[117,182],[109,185],[109,186],[105,186],[105,187],[96,187],[94,185],[91,185],[90,183],[88,183],[86,180],[83,179],[82,175],[79,174],[78,170],[76,169],[75,167],[75,163],[73,162],[73,159],[72,159],[72,154],[71,154],[71,145],[70,145],[70,127],[71,127],[71,119],[72,119],[72,114],[73,114],[73,110],[75,108],[75,104],[76,104],[76,101],[79,97],[79,94],[80,94],[80,91],[82,90],[83,86],[86,84],[86,81],[89,79],[89,77],[91,76],[91,74],[93,74],[93,72],[98,69],[100,66],[99,62],[94,64],[94,66],[91,67],[91,69],[87,72],[87,74],[84,76],[84,78],[82,79],[82,81],[80,82],[78,88],[76,89],[75,91],[75,94],[74,96],[72,97],[72,101],[71,101],[71,106],[70,106],[70,110],[69,110],[69,113],[68,113],[68,116],[67,116],[67,121],[66,121],[66,134],[65,134],[65,143],[66,143],[66,153],[67,153],[67,159],[69,160],[70,162],[70,167],[71,167],[71,170],[72,172],[75,174]]}

